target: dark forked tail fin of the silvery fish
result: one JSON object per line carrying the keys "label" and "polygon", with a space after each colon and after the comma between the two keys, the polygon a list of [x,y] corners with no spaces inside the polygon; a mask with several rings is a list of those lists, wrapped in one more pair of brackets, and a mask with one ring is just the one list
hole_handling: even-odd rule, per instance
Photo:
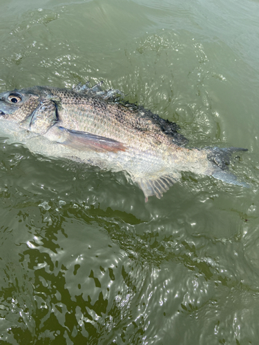
{"label": "dark forked tail fin of the silvery fish", "polygon": [[227,172],[231,160],[231,155],[234,152],[247,151],[247,148],[207,148],[209,150],[207,158],[212,163],[216,164],[215,170],[211,174],[215,179],[227,182],[228,184],[235,184],[249,188],[249,184],[238,181],[237,177],[231,172]]}

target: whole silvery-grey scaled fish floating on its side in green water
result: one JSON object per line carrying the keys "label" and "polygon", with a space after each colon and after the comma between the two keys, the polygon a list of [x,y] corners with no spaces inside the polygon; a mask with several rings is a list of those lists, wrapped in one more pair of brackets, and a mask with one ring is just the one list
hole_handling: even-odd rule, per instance
{"label": "whole silvery-grey scaled fish floating on its side in green water", "polygon": [[177,124],[100,84],[2,92],[0,122],[2,130],[32,152],[124,171],[146,201],[153,195],[160,199],[182,172],[249,186],[228,170],[231,155],[247,149],[188,148]]}

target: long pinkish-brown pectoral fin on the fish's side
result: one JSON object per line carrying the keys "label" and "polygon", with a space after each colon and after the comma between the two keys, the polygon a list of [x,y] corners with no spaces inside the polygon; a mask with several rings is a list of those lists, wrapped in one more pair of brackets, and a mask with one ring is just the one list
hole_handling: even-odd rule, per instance
{"label": "long pinkish-brown pectoral fin on the fish's side", "polygon": [[122,143],[114,139],[101,137],[79,130],[68,130],[61,126],[53,126],[46,137],[60,144],[76,148],[77,150],[95,150],[99,152],[125,151]]}

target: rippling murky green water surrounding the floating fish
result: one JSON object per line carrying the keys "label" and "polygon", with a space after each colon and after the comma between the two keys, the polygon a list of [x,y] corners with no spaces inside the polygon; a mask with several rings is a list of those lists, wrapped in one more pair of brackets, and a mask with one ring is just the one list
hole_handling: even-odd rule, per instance
{"label": "rippling murky green water surrounding the floating fish", "polygon": [[0,344],[258,344],[258,1],[1,1],[0,88],[89,80],[248,148],[251,188],[123,173],[0,140]]}

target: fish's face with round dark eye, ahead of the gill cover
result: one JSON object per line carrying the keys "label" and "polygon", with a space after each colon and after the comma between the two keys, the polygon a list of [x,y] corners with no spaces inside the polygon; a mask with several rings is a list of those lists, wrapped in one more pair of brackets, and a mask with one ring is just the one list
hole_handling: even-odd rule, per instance
{"label": "fish's face with round dark eye, ahead of the gill cover", "polygon": [[0,93],[0,119],[22,123],[39,106],[41,96],[34,88]]}

